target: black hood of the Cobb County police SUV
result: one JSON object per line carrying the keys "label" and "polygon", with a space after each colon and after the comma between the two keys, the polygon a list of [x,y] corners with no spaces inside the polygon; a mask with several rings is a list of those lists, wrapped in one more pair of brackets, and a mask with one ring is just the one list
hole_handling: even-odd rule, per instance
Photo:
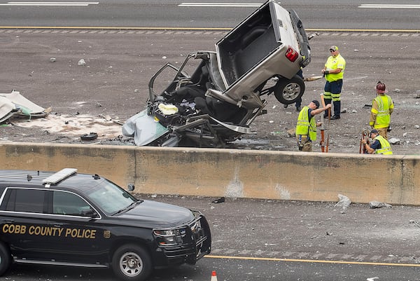
{"label": "black hood of the Cobb County police SUV", "polygon": [[144,200],[133,209],[118,215],[118,219],[139,221],[151,227],[171,228],[192,221],[194,214],[184,207]]}

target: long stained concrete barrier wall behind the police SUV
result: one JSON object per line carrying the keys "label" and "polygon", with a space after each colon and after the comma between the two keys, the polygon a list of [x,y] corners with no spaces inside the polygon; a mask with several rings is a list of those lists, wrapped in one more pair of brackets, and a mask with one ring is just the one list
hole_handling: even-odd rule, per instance
{"label": "long stained concrete barrier wall behind the police SUV", "polygon": [[420,205],[420,156],[0,144],[0,169],[76,167],[138,193]]}

